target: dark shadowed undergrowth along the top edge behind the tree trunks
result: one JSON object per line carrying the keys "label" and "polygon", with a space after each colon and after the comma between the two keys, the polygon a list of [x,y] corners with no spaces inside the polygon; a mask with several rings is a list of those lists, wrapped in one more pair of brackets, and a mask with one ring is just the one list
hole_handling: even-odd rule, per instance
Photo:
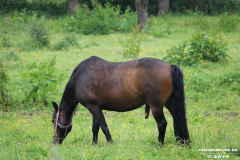
{"label": "dark shadowed undergrowth along the top edge behind the tree trunks", "polygon": [[[90,9],[95,6],[92,4],[92,0],[81,0],[82,4],[86,4]],[[98,0],[98,2],[104,6],[106,3],[110,3],[113,6],[120,6],[121,11],[125,11],[130,7],[135,11],[135,1],[125,0]],[[201,12],[209,15],[221,14],[224,12],[236,13],[240,10],[239,0],[170,0],[170,9],[173,12],[189,13],[196,11],[196,7]],[[2,0],[0,1],[0,12],[9,13],[15,9],[21,10],[27,8],[27,10],[38,11],[40,14],[47,15],[65,15],[68,11],[68,0]],[[156,15],[158,11],[158,0],[150,0],[148,6],[149,15]]]}

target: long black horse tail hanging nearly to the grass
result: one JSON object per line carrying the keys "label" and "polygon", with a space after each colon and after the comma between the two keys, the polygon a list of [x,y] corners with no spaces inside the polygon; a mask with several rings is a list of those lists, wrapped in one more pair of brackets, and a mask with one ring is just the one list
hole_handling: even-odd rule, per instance
{"label": "long black horse tail hanging nearly to the grass", "polygon": [[174,133],[177,141],[184,143],[189,141],[187,127],[183,73],[176,65],[171,65],[172,71],[172,116],[174,120]]}

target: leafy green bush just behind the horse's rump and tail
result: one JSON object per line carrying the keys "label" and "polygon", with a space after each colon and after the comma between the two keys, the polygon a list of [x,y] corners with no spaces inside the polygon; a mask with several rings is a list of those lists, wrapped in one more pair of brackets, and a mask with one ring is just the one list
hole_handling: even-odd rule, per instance
{"label": "leafy green bush just behind the horse's rump and tail", "polygon": [[231,58],[226,54],[226,43],[221,40],[221,37],[211,37],[206,32],[197,32],[190,39],[188,52],[184,52],[188,46],[185,43],[178,47],[174,46],[167,51],[167,56],[164,60],[170,63],[193,65],[195,63],[207,60],[211,62],[223,62]]}

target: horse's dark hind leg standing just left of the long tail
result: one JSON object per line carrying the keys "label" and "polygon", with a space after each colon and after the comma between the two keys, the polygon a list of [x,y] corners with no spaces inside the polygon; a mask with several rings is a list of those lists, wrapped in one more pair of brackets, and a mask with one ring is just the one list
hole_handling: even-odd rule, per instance
{"label": "horse's dark hind leg standing just left of the long tail", "polygon": [[153,117],[157,122],[157,127],[159,131],[158,141],[163,145],[167,128],[167,121],[164,117],[163,106],[151,107],[151,110]]}

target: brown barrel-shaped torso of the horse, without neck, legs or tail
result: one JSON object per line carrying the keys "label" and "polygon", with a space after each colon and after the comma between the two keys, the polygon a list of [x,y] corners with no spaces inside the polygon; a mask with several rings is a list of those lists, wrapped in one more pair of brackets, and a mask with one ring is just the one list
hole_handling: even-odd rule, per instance
{"label": "brown barrel-shaped torso of the horse, without neck, legs or tail", "polygon": [[151,96],[166,101],[172,92],[171,65],[154,58],[108,62],[91,57],[74,72],[76,95],[85,107],[98,104],[106,110],[128,111]]}

